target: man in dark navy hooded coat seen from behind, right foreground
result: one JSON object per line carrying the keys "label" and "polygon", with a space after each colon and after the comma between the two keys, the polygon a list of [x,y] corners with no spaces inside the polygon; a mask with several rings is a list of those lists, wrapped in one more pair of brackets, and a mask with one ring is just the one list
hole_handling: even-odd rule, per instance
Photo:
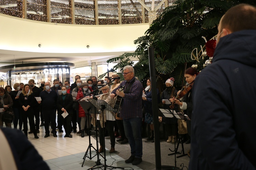
{"label": "man in dark navy hooded coat seen from behind, right foreground", "polygon": [[255,169],[256,8],[230,8],[193,86],[189,169]]}

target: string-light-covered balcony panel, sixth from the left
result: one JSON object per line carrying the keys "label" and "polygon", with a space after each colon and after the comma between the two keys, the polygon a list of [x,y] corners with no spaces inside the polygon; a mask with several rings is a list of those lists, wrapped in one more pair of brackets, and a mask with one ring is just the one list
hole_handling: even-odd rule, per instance
{"label": "string-light-covered balcony panel, sixth from the left", "polygon": [[142,5],[137,0],[121,1],[122,24],[142,23]]}

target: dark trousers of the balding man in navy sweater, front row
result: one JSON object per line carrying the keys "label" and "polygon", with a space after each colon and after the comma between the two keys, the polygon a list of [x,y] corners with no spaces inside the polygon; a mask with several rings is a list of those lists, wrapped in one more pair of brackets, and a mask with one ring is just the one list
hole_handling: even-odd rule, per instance
{"label": "dark trousers of the balding man in navy sweater, front row", "polygon": [[50,134],[49,120],[51,120],[51,126],[52,126],[52,129],[53,129],[53,134],[56,134],[56,109],[43,110],[43,115],[44,115],[45,134]]}

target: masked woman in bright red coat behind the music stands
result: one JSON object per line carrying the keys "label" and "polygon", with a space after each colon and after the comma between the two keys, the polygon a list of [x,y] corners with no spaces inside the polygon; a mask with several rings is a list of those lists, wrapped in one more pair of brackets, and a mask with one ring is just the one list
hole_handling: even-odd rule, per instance
{"label": "masked woman in bright red coat behind the music stands", "polygon": [[[92,91],[91,87],[88,87],[88,83],[82,83],[81,88],[77,92],[76,100],[89,95],[89,93]],[[79,109],[78,109],[78,116],[81,117],[81,137],[84,137],[84,128],[85,128],[85,123],[86,123],[86,114],[82,106],[79,104]]]}

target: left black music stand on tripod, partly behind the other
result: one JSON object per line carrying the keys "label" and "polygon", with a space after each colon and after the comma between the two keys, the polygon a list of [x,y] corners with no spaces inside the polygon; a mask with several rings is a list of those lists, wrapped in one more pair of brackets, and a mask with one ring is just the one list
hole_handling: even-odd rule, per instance
{"label": "left black music stand on tripod, partly behind the other", "polygon": [[[89,111],[90,111],[90,113],[91,114],[95,114],[95,117],[96,117],[96,119],[95,119],[95,125],[96,125],[96,143],[98,143],[98,136],[97,136],[97,134],[98,134],[98,132],[97,132],[97,116],[96,116],[96,114],[99,114],[99,112],[98,112],[98,110],[95,108],[95,106],[93,105],[93,104],[91,104],[90,102],[86,102],[86,101],[79,101],[79,103],[80,103],[80,105],[82,106],[82,108],[84,109],[84,111],[86,112],[87,111],[87,118],[89,118]],[[92,109],[92,108],[94,108],[94,109]],[[88,127],[90,127],[90,122],[88,121]],[[97,162],[96,162],[96,165],[95,166],[98,166],[98,165],[101,165],[101,163],[100,163],[100,159],[99,159],[99,155],[100,156],[102,156],[99,152],[98,152],[98,150],[99,150],[99,147],[98,147],[98,145],[96,145],[96,148],[97,149],[95,149],[94,147],[93,147],[93,144],[91,143],[91,137],[90,137],[90,131],[88,132],[89,133],[89,146],[88,146],[88,148],[87,148],[87,150],[86,150],[86,152],[85,152],[85,154],[84,154],[84,157],[83,157],[83,159],[84,159],[84,161],[85,161],[85,158],[86,157],[88,157],[90,160],[92,159],[92,158],[94,158],[96,155],[97,155]],[[96,155],[94,155],[93,157],[91,157],[91,148],[93,148],[95,151],[96,151]],[[88,151],[90,151],[90,156],[88,156],[87,154],[88,154]],[[102,156],[103,157],[103,156]],[[103,157],[104,158],[104,157]],[[82,164],[82,167],[84,166],[84,161],[83,161],[83,164]],[[91,167],[91,168],[89,168],[89,169],[92,169],[92,168],[94,168],[95,166],[93,166],[93,167]]]}

